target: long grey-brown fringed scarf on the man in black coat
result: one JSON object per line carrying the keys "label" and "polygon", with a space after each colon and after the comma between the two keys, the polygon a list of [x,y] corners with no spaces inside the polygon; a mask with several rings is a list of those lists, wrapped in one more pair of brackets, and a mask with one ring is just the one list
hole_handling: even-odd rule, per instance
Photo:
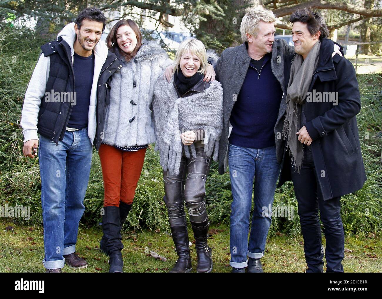
{"label": "long grey-brown fringed scarf on the man in black coat", "polygon": [[314,70],[317,68],[321,42],[318,40],[305,60],[299,54],[293,60],[288,90],[286,91],[286,116],[283,127],[284,139],[288,137],[286,149],[292,156],[291,163],[300,172],[304,159],[303,144],[296,134],[300,128],[301,104],[304,103]]}

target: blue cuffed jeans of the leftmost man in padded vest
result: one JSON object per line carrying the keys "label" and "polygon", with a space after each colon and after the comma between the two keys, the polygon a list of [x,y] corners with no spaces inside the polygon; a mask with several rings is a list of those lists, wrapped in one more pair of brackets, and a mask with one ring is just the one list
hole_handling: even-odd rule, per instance
{"label": "blue cuffed jeans of the leftmost man in padded vest", "polygon": [[65,131],[63,141],[40,136],[39,163],[44,222],[44,267],[63,268],[63,255],[76,251],[79,220],[89,181],[92,144],[87,128]]}

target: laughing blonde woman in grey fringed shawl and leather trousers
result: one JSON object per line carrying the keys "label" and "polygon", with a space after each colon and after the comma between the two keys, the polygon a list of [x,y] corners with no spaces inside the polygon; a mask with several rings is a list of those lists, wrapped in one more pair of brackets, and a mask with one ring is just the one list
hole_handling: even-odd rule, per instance
{"label": "laughing blonde woman in grey fringed shawl and leather trousers", "polygon": [[[217,60],[213,54],[209,58]],[[197,272],[211,272],[207,245],[209,221],[205,183],[211,157],[217,160],[223,125],[223,91],[217,81],[206,82],[206,48],[197,39],[182,42],[175,55],[173,77],[160,76],[154,89],[153,110],[160,165],[172,238],[178,260],[170,272],[190,272],[191,255],[184,202],[194,232]]]}

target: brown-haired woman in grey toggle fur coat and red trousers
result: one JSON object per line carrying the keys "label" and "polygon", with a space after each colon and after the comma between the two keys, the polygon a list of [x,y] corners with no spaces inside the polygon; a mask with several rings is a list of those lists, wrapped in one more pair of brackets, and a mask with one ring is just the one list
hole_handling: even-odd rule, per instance
{"label": "brown-haired woman in grey toggle fur coat and red trousers", "polygon": [[107,82],[99,148],[105,189],[100,249],[110,256],[109,272],[123,272],[121,227],[133,204],[147,146],[155,142],[154,85],[172,61],[159,45],[142,41],[141,31],[131,19],[118,21],[106,42],[120,66]]}

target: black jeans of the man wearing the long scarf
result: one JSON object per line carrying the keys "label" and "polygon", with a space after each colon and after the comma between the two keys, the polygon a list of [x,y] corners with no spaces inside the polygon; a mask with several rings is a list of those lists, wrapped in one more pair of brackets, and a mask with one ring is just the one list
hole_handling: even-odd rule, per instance
{"label": "black jeans of the man wearing the long scarf", "polygon": [[345,238],[340,216],[340,197],[323,200],[314,169],[310,147],[304,149],[304,160],[300,173],[291,166],[291,174],[298,202],[301,231],[304,237],[306,272],[323,272],[324,247],[321,244],[321,228],[318,218],[324,225],[326,239],[326,272],[343,272],[342,260]]}

